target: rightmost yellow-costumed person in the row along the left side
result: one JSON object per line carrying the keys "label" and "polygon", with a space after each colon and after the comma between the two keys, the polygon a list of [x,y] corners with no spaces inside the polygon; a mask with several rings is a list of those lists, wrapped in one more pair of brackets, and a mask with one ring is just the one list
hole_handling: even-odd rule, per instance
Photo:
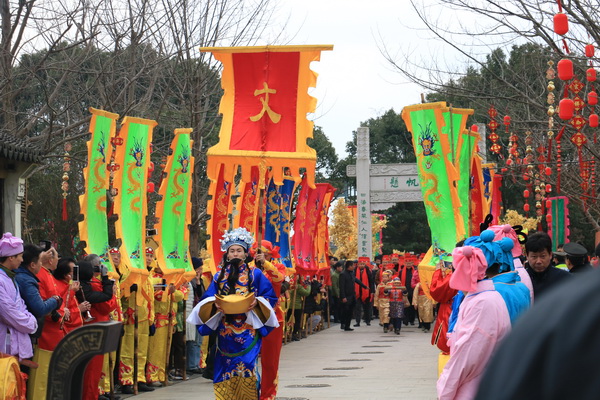
{"label": "rightmost yellow-costumed person in the row along the left side", "polygon": [[[166,379],[168,337],[172,334],[172,327],[177,322],[175,318],[177,303],[184,298],[184,293],[181,290],[175,290],[174,286],[164,287],[163,274],[158,266],[154,268],[154,275],[150,280],[154,286],[155,332],[149,340],[146,364],[147,383],[164,382]],[[169,329],[169,320],[171,329]]]}

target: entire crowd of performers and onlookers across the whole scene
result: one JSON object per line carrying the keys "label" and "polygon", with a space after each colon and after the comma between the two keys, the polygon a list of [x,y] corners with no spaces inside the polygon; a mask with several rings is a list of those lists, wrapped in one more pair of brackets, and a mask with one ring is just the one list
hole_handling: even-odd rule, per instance
{"label": "entire crowd of performers and onlookers across the whole scene", "polygon": [[[331,271],[308,276],[290,272],[278,262],[277,247],[259,246],[242,228],[221,243],[214,276],[193,257],[196,276],[174,286],[166,284],[152,247],[146,249],[149,278],[135,281],[116,248],[109,251],[115,275],[98,255],[75,260],[5,233],[0,343],[28,375],[27,398],[45,397],[52,351],[85,324],[124,326],[118,351],[88,364],[85,399],[153,391],[190,374],[212,379],[217,399],[274,399],[282,344],[330,322],[348,332],[377,318],[384,333],[399,335],[416,322],[431,332],[440,350],[439,399],[472,399],[498,346],[527,318],[534,299],[597,267],[600,257],[600,246],[590,260],[580,244],[553,252],[546,233],[526,237],[508,225],[492,226],[457,243],[452,262],[438,262],[424,285],[423,254],[373,262],[332,256]],[[485,379],[493,383],[493,377],[488,372]],[[478,398],[494,398],[483,393]]]}

